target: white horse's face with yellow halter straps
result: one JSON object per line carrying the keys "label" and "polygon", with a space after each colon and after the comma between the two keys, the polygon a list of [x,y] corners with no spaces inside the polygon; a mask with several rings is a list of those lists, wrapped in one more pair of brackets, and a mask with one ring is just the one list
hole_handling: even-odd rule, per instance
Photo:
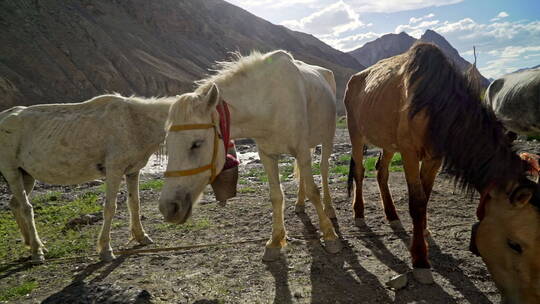
{"label": "white horse's face with yellow halter straps", "polygon": [[[191,129],[193,126],[219,123],[216,111],[218,101],[219,91],[214,85],[207,94],[184,94],[171,106],[167,122],[169,160],[159,198],[159,211],[167,222],[184,223],[210,182],[212,170],[198,172],[200,170],[197,169],[211,165],[218,174],[225,164],[223,140],[215,140],[218,134],[214,128]],[[185,129],[173,132],[170,131],[171,126],[183,126],[180,128]],[[217,149],[217,154],[212,162],[214,149]],[[177,175],[182,176],[174,176],[174,173],[180,172]]]}

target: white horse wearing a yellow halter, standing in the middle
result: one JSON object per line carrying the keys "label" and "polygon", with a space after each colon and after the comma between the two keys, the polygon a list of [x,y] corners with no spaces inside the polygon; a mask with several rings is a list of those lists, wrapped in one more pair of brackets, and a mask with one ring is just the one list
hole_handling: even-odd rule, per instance
{"label": "white horse wearing a yellow halter, standing in the middle", "polygon": [[[219,65],[216,75],[201,80],[194,93],[180,96],[171,106],[169,162],[159,200],[165,220],[185,222],[204,187],[223,167],[222,157],[215,156],[224,153],[219,139],[222,134],[214,125],[220,119],[216,106],[225,101],[230,109],[230,137],[253,138],[268,174],[273,224],[263,259],[277,259],[286,245],[284,196],[278,172],[282,153],[293,155],[300,171],[296,210],[304,209],[305,189],[317,210],[327,251],[338,252],[341,245],[329,219],[335,212],[328,189],[328,158],[336,126],[333,73],[294,60],[284,51],[254,52]],[[310,149],[321,143],[324,208],[311,172]]]}

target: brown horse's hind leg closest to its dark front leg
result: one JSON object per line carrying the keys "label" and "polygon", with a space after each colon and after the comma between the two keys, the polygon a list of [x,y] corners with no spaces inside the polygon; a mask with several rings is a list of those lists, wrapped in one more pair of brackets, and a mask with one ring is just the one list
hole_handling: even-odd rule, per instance
{"label": "brown horse's hind leg closest to its dark front leg", "polygon": [[388,188],[388,167],[393,156],[394,152],[383,150],[382,155],[377,160],[375,168],[377,168],[377,183],[379,184],[379,191],[381,192],[381,200],[386,219],[390,222],[392,228],[401,228],[401,221],[397,215],[396,207],[392,200],[392,194]]}

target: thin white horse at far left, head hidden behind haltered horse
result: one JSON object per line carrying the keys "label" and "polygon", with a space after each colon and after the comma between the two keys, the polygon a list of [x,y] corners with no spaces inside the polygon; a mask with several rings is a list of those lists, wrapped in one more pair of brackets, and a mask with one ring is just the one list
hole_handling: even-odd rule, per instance
{"label": "thin white horse at far left, head hidden behind haltered horse", "polygon": [[97,250],[102,260],[111,260],[111,222],[125,175],[132,237],[140,244],[152,243],[139,216],[139,170],[165,139],[165,122],[175,100],[102,95],[82,103],[14,107],[0,113],[0,173],[13,194],[10,207],[31,247],[32,261],[43,261],[45,250],[28,200],[36,179],[69,185],[106,178]]}

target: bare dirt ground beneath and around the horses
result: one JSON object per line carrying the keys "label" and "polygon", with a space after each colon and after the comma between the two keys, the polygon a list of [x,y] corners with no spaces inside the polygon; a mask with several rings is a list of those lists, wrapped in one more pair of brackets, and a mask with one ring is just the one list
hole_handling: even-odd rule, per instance
{"label": "bare dirt ground beneath and around the horses", "polygon": [[[530,147],[529,147],[530,148]],[[401,290],[385,286],[391,277],[411,270],[408,242],[411,220],[403,172],[393,172],[390,189],[405,227],[394,232],[385,221],[375,178],[364,182],[367,228],[354,226],[343,174],[332,174],[331,190],[343,250],[328,254],[317,237],[318,219],[309,204],[307,214],[294,213],[296,183],[283,183],[288,246],[279,261],[261,261],[264,240],[271,232],[267,186],[259,181],[261,164],[255,147],[239,147],[244,155],[238,196],[225,207],[207,191],[186,227],[165,225],[157,209],[159,191],[141,191],[143,225],[155,244],[145,248],[210,244],[212,246],[156,254],[123,255],[111,263],[96,257],[24,264],[14,257],[0,261],[0,291],[28,280],[37,287],[12,303],[498,303],[499,294],[482,260],[468,251],[477,200],[454,193],[439,175],[429,203],[430,259],[435,284],[420,285],[409,274]],[[531,148],[529,149],[531,150]],[[534,149],[533,149],[534,150]],[[344,129],[338,129],[333,161],[350,151]],[[537,152],[537,151],[533,151]],[[317,156],[317,155],[316,155]],[[152,165],[152,164],[151,164]],[[149,170],[143,180],[159,176]],[[72,191],[85,191],[83,185]],[[50,186],[38,185],[37,192]],[[64,188],[62,188],[64,189]],[[2,184],[0,200],[7,203]],[[36,212],[36,217],[39,212]],[[131,248],[125,190],[120,196],[112,232],[114,249]],[[93,225],[101,225],[101,221]],[[83,228],[84,229],[84,228]],[[47,241],[48,235],[41,235]],[[97,237],[97,236],[94,236]],[[254,240],[243,244],[231,242]],[[3,240],[5,246],[20,239]],[[6,245],[7,243],[7,245]],[[21,253],[27,255],[27,253]],[[87,255],[94,254],[93,249]],[[23,264],[20,264],[20,263]]]}

